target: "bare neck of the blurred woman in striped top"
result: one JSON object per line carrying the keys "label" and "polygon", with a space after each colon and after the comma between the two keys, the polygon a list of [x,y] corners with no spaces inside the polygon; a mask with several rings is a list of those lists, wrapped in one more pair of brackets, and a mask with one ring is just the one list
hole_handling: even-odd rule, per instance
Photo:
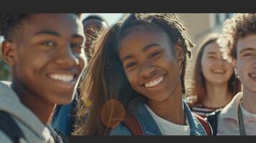
{"label": "bare neck of the blurred woman in striped top", "polygon": [[211,84],[206,83],[207,97],[203,104],[207,107],[219,108],[227,105],[231,100],[232,96],[227,90],[226,84]]}

